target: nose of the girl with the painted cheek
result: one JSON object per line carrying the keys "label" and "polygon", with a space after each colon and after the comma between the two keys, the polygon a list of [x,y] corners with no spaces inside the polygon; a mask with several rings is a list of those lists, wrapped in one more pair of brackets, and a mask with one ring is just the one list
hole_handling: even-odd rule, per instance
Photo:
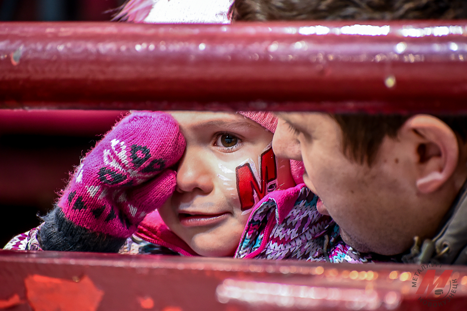
{"label": "nose of the girl with the painted cheek", "polygon": [[192,192],[199,189],[208,194],[213,190],[210,164],[206,158],[202,159],[201,152],[197,148],[187,146],[177,170],[177,192]]}

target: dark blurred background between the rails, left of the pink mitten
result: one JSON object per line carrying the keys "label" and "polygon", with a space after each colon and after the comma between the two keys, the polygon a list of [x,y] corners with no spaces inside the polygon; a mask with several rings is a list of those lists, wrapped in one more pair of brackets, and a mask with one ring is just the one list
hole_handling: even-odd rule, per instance
{"label": "dark blurred background between the rails, left of the pink mitten", "polygon": [[0,109],[0,248],[39,225],[69,173],[127,111]]}

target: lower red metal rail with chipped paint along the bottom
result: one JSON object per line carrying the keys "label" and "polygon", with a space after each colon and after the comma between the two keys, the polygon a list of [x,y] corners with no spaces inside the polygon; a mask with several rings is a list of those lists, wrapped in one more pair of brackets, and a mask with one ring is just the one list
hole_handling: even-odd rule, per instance
{"label": "lower red metal rail with chipped paint along the bottom", "polygon": [[[0,251],[0,310],[427,310],[417,265]],[[467,268],[435,310],[465,310]],[[465,281],[465,282],[464,282]]]}

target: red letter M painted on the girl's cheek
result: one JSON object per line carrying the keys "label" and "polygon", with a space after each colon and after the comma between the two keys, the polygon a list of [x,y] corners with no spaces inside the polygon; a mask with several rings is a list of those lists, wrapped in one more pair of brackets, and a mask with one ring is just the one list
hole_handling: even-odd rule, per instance
{"label": "red letter M painted on the girl's cheek", "polygon": [[258,164],[260,176],[251,159],[235,169],[242,211],[254,207],[267,193],[277,188],[277,160],[271,145],[258,157]]}

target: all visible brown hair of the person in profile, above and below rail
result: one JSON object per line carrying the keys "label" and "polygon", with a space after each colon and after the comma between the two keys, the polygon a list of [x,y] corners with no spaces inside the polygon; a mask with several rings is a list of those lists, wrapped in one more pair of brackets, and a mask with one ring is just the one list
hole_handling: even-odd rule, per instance
{"label": "all visible brown hair of the person in profile, above and below rail", "polygon": [[[235,0],[233,21],[398,20],[467,18],[467,0]],[[343,135],[343,152],[371,165],[388,135],[410,115],[335,114]],[[436,116],[467,140],[467,117]]]}

